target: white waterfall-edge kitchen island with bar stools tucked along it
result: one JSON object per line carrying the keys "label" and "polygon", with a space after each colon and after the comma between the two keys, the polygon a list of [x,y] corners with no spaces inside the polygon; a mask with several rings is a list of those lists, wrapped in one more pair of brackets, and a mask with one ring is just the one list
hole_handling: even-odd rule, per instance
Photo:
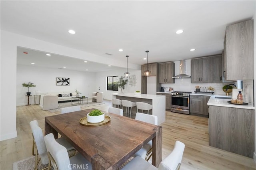
{"label": "white waterfall-edge kitchen island with bar stools tucked along it", "polygon": [[[133,102],[145,102],[152,105],[150,115],[155,115],[158,118],[158,125],[165,121],[165,96],[162,95],[134,95],[134,93],[113,93],[112,98],[120,100],[128,100]],[[132,107],[132,115],[136,115],[137,108]]]}

